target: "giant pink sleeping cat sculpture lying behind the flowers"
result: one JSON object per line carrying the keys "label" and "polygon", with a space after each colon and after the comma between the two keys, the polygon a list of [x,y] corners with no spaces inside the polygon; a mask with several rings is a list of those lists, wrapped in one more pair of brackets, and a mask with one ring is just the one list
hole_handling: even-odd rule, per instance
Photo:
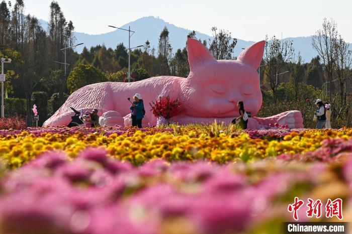
{"label": "giant pink sleeping cat sculpture lying behind the flowers", "polygon": [[[122,83],[104,82],[84,86],[73,92],[66,102],[51,116],[43,126],[63,126],[71,121],[73,115],[70,106],[80,109],[98,108],[99,115],[104,112],[109,119],[110,112],[119,116],[116,124],[130,125],[130,102],[127,97],[140,93],[144,100],[146,115],[143,125],[155,125],[156,117],[150,111],[149,102],[159,96],[179,98],[183,110],[170,119],[179,124],[209,124],[215,120],[226,124],[238,116],[237,101],[244,102],[246,111],[253,118],[248,121],[248,128],[259,129],[260,125],[278,123],[289,128],[303,128],[300,111],[292,110],[270,116],[257,118],[262,103],[257,68],[261,62],[265,41],[255,43],[238,56],[237,60],[216,60],[199,41],[188,39],[188,58],[190,74],[187,78],[158,76],[149,79]],[[110,112],[107,113],[107,111]],[[122,122],[121,122],[122,119]],[[114,124],[110,118],[110,125]]]}

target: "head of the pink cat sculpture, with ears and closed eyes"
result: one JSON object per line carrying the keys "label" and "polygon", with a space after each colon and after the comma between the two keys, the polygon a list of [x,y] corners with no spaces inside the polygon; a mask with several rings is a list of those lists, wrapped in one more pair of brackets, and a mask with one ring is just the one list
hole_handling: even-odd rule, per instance
{"label": "head of the pink cat sculpture, with ears and closed eyes", "polygon": [[255,115],[261,106],[260,65],[265,41],[242,51],[237,60],[216,60],[198,40],[187,40],[190,74],[182,85],[187,115],[206,118],[238,116],[237,101]]}

